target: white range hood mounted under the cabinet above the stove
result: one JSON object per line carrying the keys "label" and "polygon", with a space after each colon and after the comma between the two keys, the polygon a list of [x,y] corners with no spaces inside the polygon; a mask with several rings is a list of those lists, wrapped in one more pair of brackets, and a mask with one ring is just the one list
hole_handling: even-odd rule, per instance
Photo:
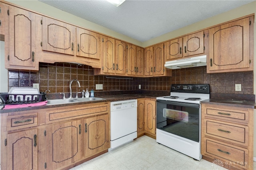
{"label": "white range hood mounted under the cabinet above the stove", "polygon": [[206,65],[206,55],[166,61],[164,67],[168,69],[181,69],[189,67],[199,67]]}

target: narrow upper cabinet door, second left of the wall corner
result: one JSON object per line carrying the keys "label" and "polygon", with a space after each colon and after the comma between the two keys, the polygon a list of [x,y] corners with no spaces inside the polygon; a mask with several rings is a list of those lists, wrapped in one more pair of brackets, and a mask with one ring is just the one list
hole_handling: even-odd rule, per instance
{"label": "narrow upper cabinet door, second left of the wall corner", "polygon": [[136,46],[128,44],[127,49],[127,74],[136,75]]}

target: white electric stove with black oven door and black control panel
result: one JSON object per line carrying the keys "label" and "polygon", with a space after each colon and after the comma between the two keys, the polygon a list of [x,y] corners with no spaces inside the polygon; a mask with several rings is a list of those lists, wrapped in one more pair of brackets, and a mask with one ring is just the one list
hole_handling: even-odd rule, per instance
{"label": "white electric stove with black oven door and black control panel", "polygon": [[201,154],[201,101],[209,85],[172,85],[170,96],[156,98],[156,142],[196,160]]}

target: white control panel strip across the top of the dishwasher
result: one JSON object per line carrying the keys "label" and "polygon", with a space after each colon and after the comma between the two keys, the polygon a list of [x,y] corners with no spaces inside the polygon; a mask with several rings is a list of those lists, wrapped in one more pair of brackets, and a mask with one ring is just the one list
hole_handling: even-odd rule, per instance
{"label": "white control panel strip across the top of the dishwasher", "polygon": [[116,101],[110,103],[111,111],[119,111],[137,107],[137,100]]}

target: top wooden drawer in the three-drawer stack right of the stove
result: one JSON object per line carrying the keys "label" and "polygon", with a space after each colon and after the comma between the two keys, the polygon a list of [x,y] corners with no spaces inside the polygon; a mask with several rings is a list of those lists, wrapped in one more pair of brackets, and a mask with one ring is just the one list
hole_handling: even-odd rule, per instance
{"label": "top wooden drawer in the three-drawer stack right of the stove", "polygon": [[248,121],[248,114],[248,111],[206,107],[206,116],[215,116],[232,121]]}

